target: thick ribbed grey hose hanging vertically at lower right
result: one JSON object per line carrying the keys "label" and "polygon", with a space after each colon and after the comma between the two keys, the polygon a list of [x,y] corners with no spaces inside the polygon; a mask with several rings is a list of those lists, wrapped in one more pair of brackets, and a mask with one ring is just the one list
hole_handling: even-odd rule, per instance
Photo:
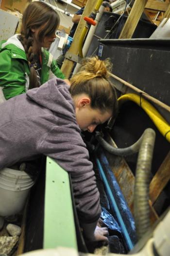
{"label": "thick ribbed grey hose hanging vertically at lower right", "polygon": [[143,133],[136,166],[134,193],[134,216],[137,238],[140,239],[150,227],[149,185],[155,132],[146,129]]}

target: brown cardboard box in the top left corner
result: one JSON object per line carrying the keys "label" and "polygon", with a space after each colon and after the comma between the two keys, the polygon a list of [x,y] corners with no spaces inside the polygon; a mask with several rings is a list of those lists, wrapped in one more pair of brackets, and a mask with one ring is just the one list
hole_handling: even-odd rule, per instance
{"label": "brown cardboard box in the top left corner", "polygon": [[0,8],[4,11],[17,11],[23,13],[32,0],[1,0]]}

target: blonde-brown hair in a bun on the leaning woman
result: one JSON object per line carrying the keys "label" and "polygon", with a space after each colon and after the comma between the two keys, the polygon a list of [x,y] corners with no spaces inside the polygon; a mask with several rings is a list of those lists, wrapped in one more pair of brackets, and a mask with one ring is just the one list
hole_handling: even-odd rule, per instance
{"label": "blonde-brown hair in a bun on the leaning woman", "polygon": [[91,100],[91,107],[102,112],[112,110],[117,115],[118,101],[114,85],[108,80],[112,64],[109,59],[99,60],[97,56],[85,58],[79,71],[70,79],[70,94],[85,93]]}

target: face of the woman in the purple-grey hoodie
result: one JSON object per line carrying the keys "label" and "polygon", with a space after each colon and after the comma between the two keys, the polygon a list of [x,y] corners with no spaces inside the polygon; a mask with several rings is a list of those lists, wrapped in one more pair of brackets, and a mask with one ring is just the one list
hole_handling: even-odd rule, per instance
{"label": "face of the woman in the purple-grey hoodie", "polygon": [[102,124],[112,117],[111,111],[101,112],[100,109],[90,107],[85,99],[76,107],[76,119],[81,130],[92,133],[98,124]]}

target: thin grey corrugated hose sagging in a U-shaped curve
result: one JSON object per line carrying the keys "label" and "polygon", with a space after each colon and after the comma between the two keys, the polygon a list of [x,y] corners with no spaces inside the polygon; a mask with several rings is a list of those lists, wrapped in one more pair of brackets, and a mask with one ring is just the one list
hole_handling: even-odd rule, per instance
{"label": "thin grey corrugated hose sagging in a U-shaped curve", "polygon": [[116,155],[121,155],[121,156],[137,153],[140,148],[142,137],[143,137],[143,135],[130,147],[127,147],[124,149],[123,148],[115,148],[102,138],[100,132],[96,131],[96,138],[99,141],[99,143],[102,145],[102,147],[105,150],[107,150],[108,152],[110,152],[111,154],[116,154]]}

